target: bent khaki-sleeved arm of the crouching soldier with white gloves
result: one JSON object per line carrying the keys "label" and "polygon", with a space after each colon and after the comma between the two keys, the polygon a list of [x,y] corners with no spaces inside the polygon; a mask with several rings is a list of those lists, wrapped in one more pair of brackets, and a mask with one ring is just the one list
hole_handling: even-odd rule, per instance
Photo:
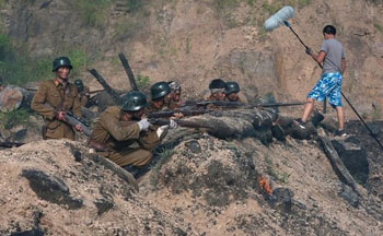
{"label": "bent khaki-sleeved arm of the crouching soldier with white gloves", "polygon": [[132,140],[140,138],[140,128],[137,123],[130,123],[128,126],[121,126],[121,122],[108,113],[104,113],[100,118],[103,127],[111,133],[117,141]]}

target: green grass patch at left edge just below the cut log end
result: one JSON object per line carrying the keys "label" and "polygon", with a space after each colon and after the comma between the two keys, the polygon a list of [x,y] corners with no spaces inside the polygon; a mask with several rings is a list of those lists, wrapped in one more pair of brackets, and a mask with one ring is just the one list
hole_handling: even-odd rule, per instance
{"label": "green grass patch at left edge just below the cut log end", "polygon": [[10,113],[0,113],[0,127],[1,129],[12,129],[20,125],[30,123],[31,113],[26,109],[16,109]]}

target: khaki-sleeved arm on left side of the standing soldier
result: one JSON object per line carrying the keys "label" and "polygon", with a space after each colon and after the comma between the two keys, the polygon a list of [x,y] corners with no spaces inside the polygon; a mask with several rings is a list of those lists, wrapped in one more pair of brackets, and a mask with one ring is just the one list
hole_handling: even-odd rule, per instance
{"label": "khaki-sleeved arm on left side of the standing soldier", "polygon": [[46,119],[53,120],[56,115],[56,110],[53,107],[45,105],[48,96],[47,93],[48,88],[44,83],[42,83],[33,96],[31,108],[37,114],[44,116]]}

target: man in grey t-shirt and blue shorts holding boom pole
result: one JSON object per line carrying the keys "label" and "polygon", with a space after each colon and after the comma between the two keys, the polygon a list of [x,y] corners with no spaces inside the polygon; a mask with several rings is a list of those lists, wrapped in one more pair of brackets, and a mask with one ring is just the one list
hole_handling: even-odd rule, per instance
{"label": "man in grey t-shirt and blue shorts holding boom pole", "polygon": [[341,106],[341,79],[346,70],[346,56],[341,44],[335,39],[336,28],[326,25],[323,28],[324,40],[320,54],[314,54],[306,47],[306,54],[317,63],[323,63],[321,79],[307,95],[307,104],[304,106],[302,118],[298,120],[300,127],[305,129],[305,122],[314,108],[314,101],[322,102],[328,97],[328,103],[336,109],[338,117],[338,130],[336,135],[345,137],[345,111]]}

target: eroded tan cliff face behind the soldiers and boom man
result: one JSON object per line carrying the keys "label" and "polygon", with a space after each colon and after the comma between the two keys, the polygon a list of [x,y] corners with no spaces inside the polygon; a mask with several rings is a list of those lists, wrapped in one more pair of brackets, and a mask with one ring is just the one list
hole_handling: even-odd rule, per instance
{"label": "eroded tan cliff face behind the soldiers and boom man", "polygon": [[[199,94],[211,79],[222,78],[240,82],[252,96],[254,91],[274,92],[279,101],[302,101],[321,74],[288,27],[271,33],[262,28],[270,13],[283,5],[281,1],[149,1],[137,8],[131,2],[141,1],[109,2],[86,9],[69,0],[8,1],[1,10],[2,22],[35,56],[80,47],[93,59],[89,67],[123,90],[129,85],[117,58],[121,51],[136,75],[147,75],[150,82],[179,81],[187,95]],[[323,40],[324,25],[338,28],[348,66],[344,93],[361,114],[379,118],[383,102],[382,3],[292,2],[295,16],[291,26],[313,49]],[[96,14],[90,14],[92,11]],[[85,68],[82,78],[98,86]],[[348,106],[346,110],[352,118]]]}

